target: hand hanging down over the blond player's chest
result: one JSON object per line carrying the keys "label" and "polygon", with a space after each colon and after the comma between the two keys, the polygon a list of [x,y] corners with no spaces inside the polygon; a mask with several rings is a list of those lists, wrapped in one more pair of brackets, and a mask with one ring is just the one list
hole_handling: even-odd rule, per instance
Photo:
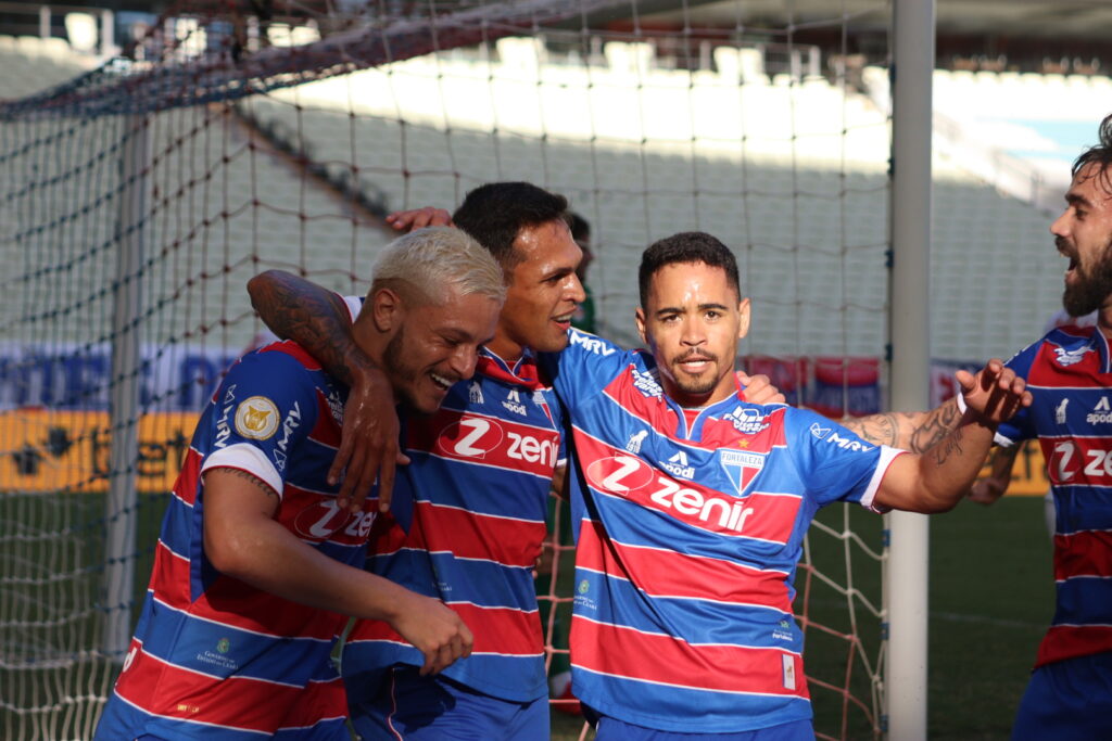
{"label": "hand hanging down over the blond player's chest", "polygon": [[378,510],[390,509],[396,464],[409,462],[398,449],[398,413],[394,409],[394,392],[386,374],[366,369],[355,377],[344,405],[340,448],[328,469],[328,482],[341,481],[337,494],[340,508],[350,512],[363,509],[363,502],[378,479]]}

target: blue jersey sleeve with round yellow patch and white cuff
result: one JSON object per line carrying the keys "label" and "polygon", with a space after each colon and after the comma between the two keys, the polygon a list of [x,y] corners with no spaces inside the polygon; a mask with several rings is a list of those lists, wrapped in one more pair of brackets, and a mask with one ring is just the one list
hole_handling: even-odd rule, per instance
{"label": "blue jersey sleeve with round yellow patch and white cuff", "polygon": [[201,472],[247,471],[281,497],[286,459],[317,421],[316,384],[305,367],[285,352],[251,353],[231,367],[215,398]]}

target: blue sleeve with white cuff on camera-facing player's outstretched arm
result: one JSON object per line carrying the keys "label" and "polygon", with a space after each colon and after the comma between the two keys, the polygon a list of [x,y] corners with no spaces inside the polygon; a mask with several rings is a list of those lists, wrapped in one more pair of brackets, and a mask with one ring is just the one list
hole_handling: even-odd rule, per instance
{"label": "blue sleeve with white cuff on camera-facing player's outstretched arm", "polygon": [[904,451],[866,442],[841,424],[804,409],[787,410],[788,449],[810,495],[873,507],[876,490]]}

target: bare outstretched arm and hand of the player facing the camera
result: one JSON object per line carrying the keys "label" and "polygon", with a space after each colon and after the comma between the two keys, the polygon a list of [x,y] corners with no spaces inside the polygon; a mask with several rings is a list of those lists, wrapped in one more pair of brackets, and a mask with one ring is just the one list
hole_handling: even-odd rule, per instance
{"label": "bare outstretched arm and hand of the player facing the camera", "polygon": [[989,361],[975,377],[959,371],[957,382],[967,407],[961,422],[924,453],[896,458],[876,504],[924,513],[953,509],[981,470],[996,425],[1031,404],[1023,379],[1000,360]]}

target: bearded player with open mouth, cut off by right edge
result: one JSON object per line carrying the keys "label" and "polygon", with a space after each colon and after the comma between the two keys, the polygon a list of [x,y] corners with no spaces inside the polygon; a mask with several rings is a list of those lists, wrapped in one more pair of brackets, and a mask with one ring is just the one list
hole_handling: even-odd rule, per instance
{"label": "bearded player with open mouth, cut off by right edge", "polygon": [[1050,231],[1069,259],[1062,303],[1095,327],[1051,330],[1007,367],[1034,403],[997,440],[1037,438],[1056,509],[1056,609],[1020,701],[1012,738],[1112,739],[1112,116],[1073,163]]}

